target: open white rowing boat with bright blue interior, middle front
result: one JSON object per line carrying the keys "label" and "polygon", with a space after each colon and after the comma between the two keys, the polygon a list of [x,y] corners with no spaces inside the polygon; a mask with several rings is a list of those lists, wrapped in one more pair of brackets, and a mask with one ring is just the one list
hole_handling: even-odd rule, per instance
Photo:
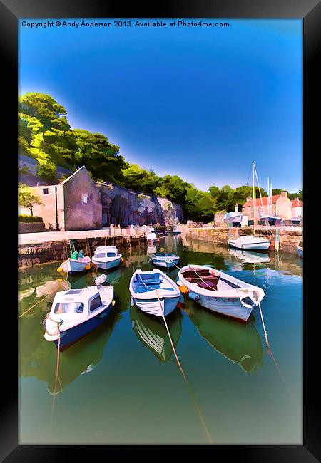
{"label": "open white rowing boat with bright blue interior, middle front", "polygon": [[138,269],[129,283],[131,303],[150,315],[166,316],[173,312],[180,301],[177,284],[161,270]]}

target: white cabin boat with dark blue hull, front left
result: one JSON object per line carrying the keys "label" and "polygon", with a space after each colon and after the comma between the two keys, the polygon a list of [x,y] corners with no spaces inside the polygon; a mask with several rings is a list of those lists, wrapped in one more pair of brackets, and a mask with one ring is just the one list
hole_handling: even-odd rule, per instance
{"label": "white cabin boat with dark blue hull, front left", "polygon": [[44,338],[53,341],[57,348],[60,338],[62,351],[100,326],[114,304],[113,286],[102,286],[105,280],[106,275],[101,275],[95,286],[58,291],[44,318]]}

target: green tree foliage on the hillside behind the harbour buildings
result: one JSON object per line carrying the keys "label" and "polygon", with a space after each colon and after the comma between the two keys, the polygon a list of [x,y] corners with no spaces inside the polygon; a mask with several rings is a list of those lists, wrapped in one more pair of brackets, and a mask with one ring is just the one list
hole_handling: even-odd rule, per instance
{"label": "green tree foliage on the hillside behind the harbour buildings", "polygon": [[[51,95],[26,93],[19,97],[19,153],[34,157],[38,161],[38,175],[48,180],[55,179],[57,165],[71,171],[85,165],[93,180],[115,182],[142,194],[165,197],[181,204],[185,217],[197,221],[202,216],[212,220],[214,212],[233,211],[236,203],[242,207],[247,197],[253,195],[252,187],[245,185],[235,189],[228,184],[221,188],[212,185],[208,192],[203,192],[178,175],[160,177],[153,170],[129,164],[119,154],[120,148],[109,142],[108,137],[72,129],[66,116],[66,109]],[[262,196],[267,195],[263,189],[260,192]],[[260,197],[260,192],[256,187],[256,197]],[[272,194],[280,192],[280,189],[272,190]],[[26,192],[24,197],[28,197]],[[303,191],[289,193],[288,197],[303,199]],[[27,202],[26,199],[24,204]],[[31,199],[28,204],[32,211]]]}

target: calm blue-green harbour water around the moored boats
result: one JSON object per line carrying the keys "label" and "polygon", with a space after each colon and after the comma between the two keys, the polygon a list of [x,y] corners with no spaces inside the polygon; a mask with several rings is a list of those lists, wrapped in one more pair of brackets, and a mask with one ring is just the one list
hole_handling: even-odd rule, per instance
{"label": "calm blue-green harbour water around the moored boats", "polygon": [[[19,443],[206,444],[206,430],[215,444],[302,443],[302,260],[171,236],[160,246],[177,251],[181,265],[212,265],[262,287],[271,351],[258,308],[243,324],[186,299],[168,318],[186,387],[163,322],[131,307],[133,266],[152,268],[138,246],[132,256],[121,250],[125,263],[108,274],[116,292],[111,318],[61,353],[54,395],[57,350],[44,340],[42,321],[61,290],[58,264],[26,269],[19,313],[48,296],[19,319]],[[67,283],[92,281],[88,272]]]}

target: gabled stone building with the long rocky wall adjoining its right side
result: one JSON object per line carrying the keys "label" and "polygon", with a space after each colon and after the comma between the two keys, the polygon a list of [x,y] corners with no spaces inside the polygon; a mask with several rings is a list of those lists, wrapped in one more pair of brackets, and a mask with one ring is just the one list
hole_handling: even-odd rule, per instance
{"label": "gabled stone building with the long rocky wall adjoining its right side", "polygon": [[[54,182],[53,182],[54,183]],[[131,224],[171,224],[183,221],[179,204],[155,194],[133,192],[113,183],[93,182],[86,167],[58,184],[31,186],[44,205],[34,205],[34,215],[43,218],[46,229],[89,230],[126,227]],[[30,214],[19,208],[20,214]]]}

